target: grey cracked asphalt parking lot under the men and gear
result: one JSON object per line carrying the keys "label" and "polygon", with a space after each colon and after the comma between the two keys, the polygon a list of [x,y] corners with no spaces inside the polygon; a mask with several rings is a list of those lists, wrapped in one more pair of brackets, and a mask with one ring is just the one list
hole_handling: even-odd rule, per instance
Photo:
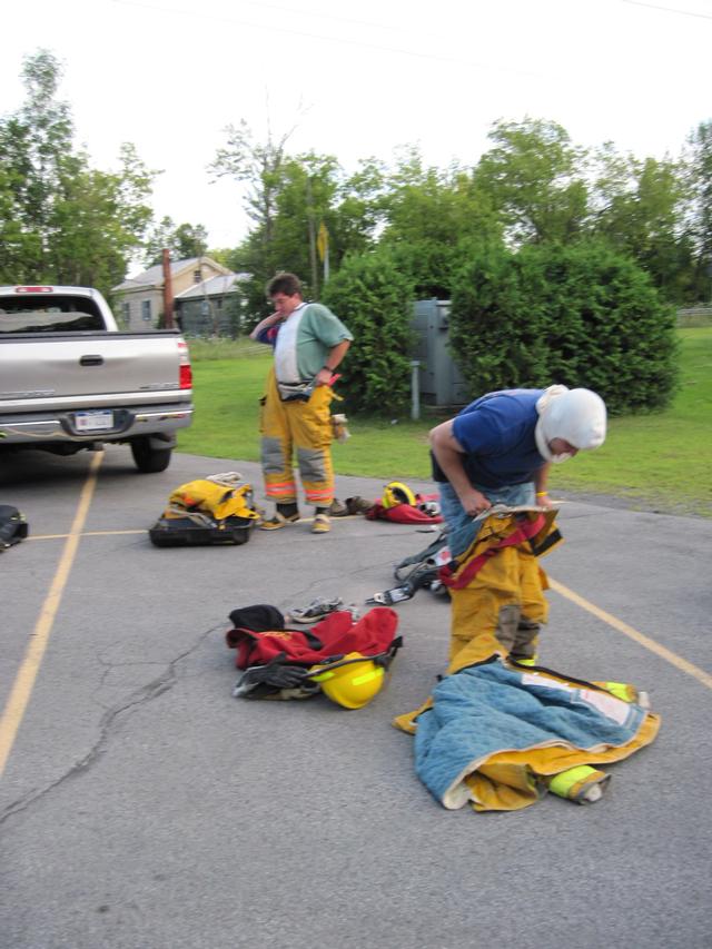
{"label": "grey cracked asphalt parking lot under the men and gear", "polygon": [[[712,945],[712,521],[562,498],[542,661],[646,690],[661,732],[596,804],[477,814],[428,794],[390,725],[445,666],[428,592],[396,607],[404,648],[365,709],[233,698],[233,609],[367,609],[433,535],[355,516],[149,543],[176,485],[231,469],[261,496],[240,461],[2,461],[0,502],[31,535],[0,554],[3,949]],[[337,478],[342,498],[380,490]]]}

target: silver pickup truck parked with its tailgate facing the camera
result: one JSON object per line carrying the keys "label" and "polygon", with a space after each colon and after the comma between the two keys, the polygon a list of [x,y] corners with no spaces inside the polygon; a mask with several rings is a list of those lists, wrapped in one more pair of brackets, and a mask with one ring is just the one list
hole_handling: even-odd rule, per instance
{"label": "silver pickup truck parked with its tailgate facing the camera", "polygon": [[139,472],[162,472],[191,421],[180,333],[120,332],[90,287],[0,287],[0,457],[122,442]]}

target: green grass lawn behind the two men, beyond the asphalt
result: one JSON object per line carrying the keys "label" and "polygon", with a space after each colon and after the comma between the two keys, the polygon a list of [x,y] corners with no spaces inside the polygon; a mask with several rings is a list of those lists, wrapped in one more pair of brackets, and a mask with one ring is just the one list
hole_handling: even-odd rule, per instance
{"label": "green grass lawn behind the two men, beyond the asphalt", "polygon": [[[554,467],[560,491],[614,494],[661,510],[712,516],[712,327],[680,329],[681,387],[662,413],[610,419],[603,447]],[[271,354],[246,344],[191,342],[196,416],[178,449],[259,459],[257,417]],[[216,358],[217,356],[217,358]],[[348,414],[348,405],[333,404]],[[442,419],[352,418],[352,438],[334,445],[339,474],[384,480],[429,477],[427,432]]]}

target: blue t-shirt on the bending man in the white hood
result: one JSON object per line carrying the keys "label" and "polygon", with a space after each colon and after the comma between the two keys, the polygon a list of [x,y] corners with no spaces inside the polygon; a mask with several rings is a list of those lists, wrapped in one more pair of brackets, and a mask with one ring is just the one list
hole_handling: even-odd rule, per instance
{"label": "blue t-shirt on the bending man in the white hood", "polygon": [[[504,487],[533,481],[545,459],[534,439],[536,401],[544,389],[505,389],[475,399],[455,416],[453,435],[465,449],[473,485]],[[434,459],[435,481],[447,481]]]}

